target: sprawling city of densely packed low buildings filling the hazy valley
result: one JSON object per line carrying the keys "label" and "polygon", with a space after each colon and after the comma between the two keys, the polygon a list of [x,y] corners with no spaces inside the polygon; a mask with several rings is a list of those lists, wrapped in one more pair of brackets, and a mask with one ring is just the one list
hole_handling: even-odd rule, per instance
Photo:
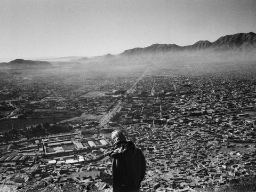
{"label": "sprawling city of densely packed low buildings filling the hazy valley", "polygon": [[146,157],[141,191],[256,174],[255,62],[111,62],[1,69],[1,189],[111,190],[116,129]]}

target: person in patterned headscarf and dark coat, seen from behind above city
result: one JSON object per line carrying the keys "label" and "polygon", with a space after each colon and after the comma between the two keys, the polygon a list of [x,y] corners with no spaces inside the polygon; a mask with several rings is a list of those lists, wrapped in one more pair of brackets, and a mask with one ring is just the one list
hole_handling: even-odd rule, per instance
{"label": "person in patterned headscarf and dark coat, seen from behind above city", "polygon": [[146,171],[145,157],[132,141],[126,141],[121,131],[111,133],[113,149],[109,156],[113,157],[113,192],[140,191],[140,182]]}

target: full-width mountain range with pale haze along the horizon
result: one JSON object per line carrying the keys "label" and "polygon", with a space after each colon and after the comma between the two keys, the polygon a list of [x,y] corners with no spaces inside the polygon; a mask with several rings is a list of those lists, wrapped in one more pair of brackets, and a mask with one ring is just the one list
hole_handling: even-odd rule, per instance
{"label": "full-width mountain range with pale haze along the horizon", "polygon": [[[221,53],[226,57],[234,55],[242,55],[243,58],[256,59],[254,55],[256,53],[256,34],[253,32],[250,33],[238,33],[234,35],[226,35],[218,38],[214,42],[210,41],[198,41],[193,45],[179,46],[176,44],[153,44],[148,47],[135,47],[133,49],[125,50],[119,54],[106,54],[97,57],[65,57],[65,58],[51,58],[51,59],[38,59],[34,60],[23,60],[15,59],[10,62],[0,63],[0,67],[18,67],[18,68],[31,68],[31,67],[49,67],[49,66],[78,66],[80,64],[89,63],[90,65],[95,65],[97,63],[124,63],[131,61],[129,58],[142,58],[141,56],[147,55],[169,55],[172,53]],[[206,54],[205,54],[206,53]],[[240,57],[240,56],[237,57]],[[138,56],[138,57],[137,57]],[[158,55],[159,56],[159,55]],[[181,56],[179,56],[181,57]],[[202,57],[202,54],[199,54],[199,57]],[[207,57],[207,56],[205,56]],[[147,57],[146,57],[147,58]],[[159,57],[157,57],[159,58]],[[145,57],[143,57],[145,61]],[[142,60],[143,60],[142,59]],[[47,61],[45,61],[47,60]],[[249,59],[251,60],[251,59]],[[49,62],[48,62],[49,61]]]}

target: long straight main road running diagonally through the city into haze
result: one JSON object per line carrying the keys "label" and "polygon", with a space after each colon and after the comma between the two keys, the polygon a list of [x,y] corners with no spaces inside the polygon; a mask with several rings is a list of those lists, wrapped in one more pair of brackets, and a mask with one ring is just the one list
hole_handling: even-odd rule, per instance
{"label": "long straight main road running diagonally through the city into haze", "polygon": [[[133,93],[133,92],[134,92],[134,90],[136,89],[137,83],[145,76],[146,71],[147,71],[147,68],[146,68],[146,70],[144,71],[144,73],[143,73],[138,79],[136,79],[136,81],[134,82],[134,84],[124,93],[123,98],[126,98],[127,95],[129,95],[130,93]],[[119,112],[119,111],[123,108],[123,105],[124,105],[124,102],[123,102],[123,100],[122,100],[122,98],[121,98],[121,99],[119,99],[119,100],[116,102],[116,105],[115,105],[112,109],[110,109],[110,110],[108,111],[107,114],[105,114],[105,115],[103,115],[103,116],[101,117],[101,119],[99,120],[99,126],[100,126],[100,127],[107,128],[110,119],[111,119],[117,112]]]}

